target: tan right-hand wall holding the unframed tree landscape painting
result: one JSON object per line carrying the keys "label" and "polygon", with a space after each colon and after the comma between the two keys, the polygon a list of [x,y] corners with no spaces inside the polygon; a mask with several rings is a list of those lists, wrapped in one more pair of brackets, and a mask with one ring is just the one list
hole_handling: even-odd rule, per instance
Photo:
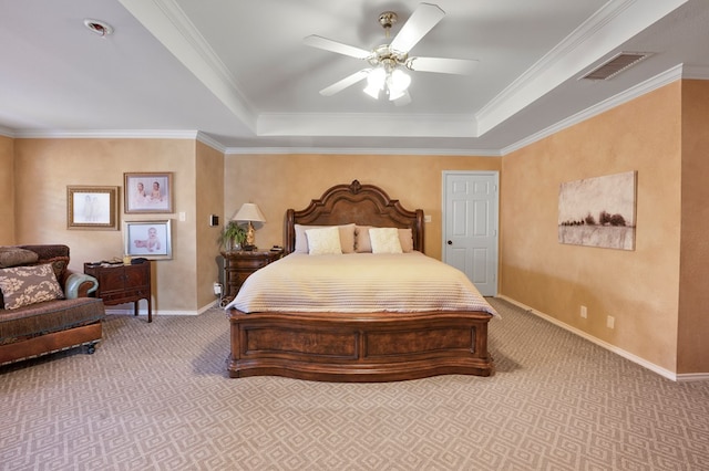
{"label": "tan right-hand wall holding the unframed tree landscape painting", "polygon": [[[677,369],[680,91],[680,82],[667,85],[503,157],[501,184],[501,293],[670,371]],[[636,249],[559,244],[559,184],[629,170],[637,170]],[[607,315],[615,316],[614,329]]]}

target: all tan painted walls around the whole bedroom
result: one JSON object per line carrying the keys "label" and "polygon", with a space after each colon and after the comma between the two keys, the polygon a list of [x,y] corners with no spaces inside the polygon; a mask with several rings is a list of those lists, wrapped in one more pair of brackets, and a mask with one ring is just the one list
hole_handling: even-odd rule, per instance
{"label": "all tan painted walls around the whole bedroom", "polygon": [[[121,203],[120,220],[173,220],[174,258],[153,264],[155,307],[193,313],[214,301],[212,283],[220,275],[215,241],[244,202],[266,214],[257,243],[268,248],[282,243],[287,208],[305,208],[332,185],[359,179],[431,216],[425,250],[440,259],[442,171],[495,170],[501,294],[668,370],[707,371],[707,82],[677,82],[502,159],[225,157],[194,140],[0,136],[0,217],[10,221],[0,226],[0,243],[66,243],[74,270],[120,257],[122,231],[66,229],[66,186],[122,188],[125,171],[174,171],[175,213],[126,217]],[[636,250],[559,244],[559,184],[628,170],[638,172]],[[212,213],[220,217],[218,228],[208,227]],[[579,316],[582,304],[587,320]],[[606,327],[607,315],[616,318],[614,329]]]}

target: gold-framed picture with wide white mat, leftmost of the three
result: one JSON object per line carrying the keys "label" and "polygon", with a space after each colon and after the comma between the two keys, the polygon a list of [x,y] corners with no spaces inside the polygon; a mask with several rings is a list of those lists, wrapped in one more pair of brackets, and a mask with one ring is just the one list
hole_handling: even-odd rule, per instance
{"label": "gold-framed picture with wide white mat, leftmost of the three", "polygon": [[66,187],[66,228],[119,230],[119,187]]}

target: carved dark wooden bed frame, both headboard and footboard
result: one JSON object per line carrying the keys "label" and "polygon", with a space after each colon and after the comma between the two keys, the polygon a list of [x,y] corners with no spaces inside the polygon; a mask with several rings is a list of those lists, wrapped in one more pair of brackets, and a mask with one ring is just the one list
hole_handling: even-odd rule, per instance
{"label": "carved dark wooden bed frame, both headboard and footboard", "polygon": [[[338,185],[286,212],[285,250],[295,224],[411,228],[423,252],[423,211],[408,211],[373,185]],[[422,274],[425,276],[425,273]],[[321,381],[393,381],[435,375],[490,376],[486,312],[301,313],[228,311],[230,377],[286,376]]]}

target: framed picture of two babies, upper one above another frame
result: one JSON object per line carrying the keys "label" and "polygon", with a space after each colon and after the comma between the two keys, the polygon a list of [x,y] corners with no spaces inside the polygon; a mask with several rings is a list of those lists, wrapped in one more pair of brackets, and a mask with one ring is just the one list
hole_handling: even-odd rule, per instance
{"label": "framed picture of two babies, upper one above another frame", "polygon": [[173,174],[123,174],[125,213],[173,212]]}

